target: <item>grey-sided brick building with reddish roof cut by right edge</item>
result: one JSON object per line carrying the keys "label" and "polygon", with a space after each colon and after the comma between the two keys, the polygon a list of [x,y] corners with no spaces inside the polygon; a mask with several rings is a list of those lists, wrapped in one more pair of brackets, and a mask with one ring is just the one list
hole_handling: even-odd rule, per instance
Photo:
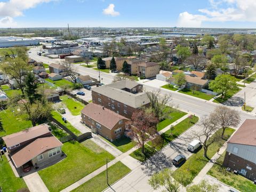
{"label": "grey-sided brick building with reddish roof cut by right edge", "polygon": [[246,119],[227,141],[223,166],[256,180],[256,119]]}

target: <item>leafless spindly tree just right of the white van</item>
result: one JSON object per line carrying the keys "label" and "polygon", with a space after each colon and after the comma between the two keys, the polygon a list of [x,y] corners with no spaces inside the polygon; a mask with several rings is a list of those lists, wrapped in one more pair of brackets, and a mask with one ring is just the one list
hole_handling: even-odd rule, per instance
{"label": "leafless spindly tree just right of the white van", "polygon": [[211,137],[217,130],[218,126],[215,125],[215,122],[211,121],[211,118],[204,116],[199,123],[203,130],[196,132],[196,138],[202,143],[204,149],[204,157],[210,159],[207,156],[207,151],[209,146],[214,142],[218,142],[220,137]]}

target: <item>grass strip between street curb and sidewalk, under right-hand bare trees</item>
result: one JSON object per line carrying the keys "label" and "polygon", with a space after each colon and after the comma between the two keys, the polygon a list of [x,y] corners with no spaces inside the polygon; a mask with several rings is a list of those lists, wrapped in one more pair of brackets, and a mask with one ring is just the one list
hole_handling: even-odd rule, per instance
{"label": "grass strip between street curb and sidewalk, under right-hand bare trees", "polygon": [[[225,137],[228,139],[230,135],[234,132],[234,129],[227,128],[225,131]],[[212,137],[220,137],[220,134],[222,132],[222,129],[218,130]],[[210,138],[212,139],[212,138]],[[208,149],[207,155],[209,158],[212,158],[212,156],[217,153],[217,150],[225,143],[225,140],[221,140],[219,142],[214,142]],[[179,174],[185,174],[187,179],[184,183],[181,183],[183,186],[189,185],[193,179],[196,177],[196,175],[203,169],[203,167],[208,162],[208,159],[206,159],[204,156],[204,149],[202,148],[199,150],[196,154],[191,155],[185,164],[183,164],[179,169],[174,171],[174,179],[177,177],[176,175]]]}

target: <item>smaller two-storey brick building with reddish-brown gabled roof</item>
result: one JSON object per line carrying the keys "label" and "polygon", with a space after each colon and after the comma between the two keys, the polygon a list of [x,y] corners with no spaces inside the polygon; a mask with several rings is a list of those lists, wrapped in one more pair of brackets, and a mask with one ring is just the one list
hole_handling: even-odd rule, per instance
{"label": "smaller two-storey brick building with reddish-brown gabled roof", "polygon": [[89,103],[81,111],[82,121],[93,133],[114,141],[125,132],[125,123],[129,120],[103,106]]}

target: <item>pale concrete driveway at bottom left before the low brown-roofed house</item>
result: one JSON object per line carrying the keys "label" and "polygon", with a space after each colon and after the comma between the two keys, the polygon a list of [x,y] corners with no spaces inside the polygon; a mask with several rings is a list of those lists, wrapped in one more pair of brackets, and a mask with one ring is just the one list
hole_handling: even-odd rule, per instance
{"label": "pale concrete driveway at bottom left before the low brown-roofed house", "polygon": [[23,177],[30,192],[49,192],[43,180],[37,172]]}

